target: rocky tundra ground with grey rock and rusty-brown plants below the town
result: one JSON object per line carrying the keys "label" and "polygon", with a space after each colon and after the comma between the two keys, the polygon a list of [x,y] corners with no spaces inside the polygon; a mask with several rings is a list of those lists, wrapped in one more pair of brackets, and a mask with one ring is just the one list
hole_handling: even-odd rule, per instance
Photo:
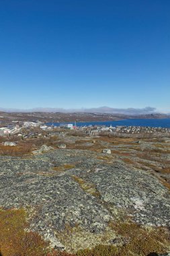
{"label": "rocky tundra ground with grey rock and rusty-brown plants below the town", "polygon": [[[169,252],[170,143],[64,134],[0,137],[0,255]],[[34,156],[44,144],[53,150]]]}

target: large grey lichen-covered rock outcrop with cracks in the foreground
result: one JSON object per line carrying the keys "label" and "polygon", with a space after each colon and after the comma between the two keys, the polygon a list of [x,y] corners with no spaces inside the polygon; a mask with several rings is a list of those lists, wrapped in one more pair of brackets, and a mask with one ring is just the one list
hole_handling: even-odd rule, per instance
{"label": "large grey lichen-covered rock outcrop with cracks in the foreground", "polygon": [[[169,226],[169,190],[159,179],[103,157],[99,152],[69,149],[29,158],[0,156],[0,205],[30,207],[31,229],[54,247],[65,247],[58,234],[67,225],[101,234],[119,212],[139,224]],[[93,187],[96,195],[82,184]]]}

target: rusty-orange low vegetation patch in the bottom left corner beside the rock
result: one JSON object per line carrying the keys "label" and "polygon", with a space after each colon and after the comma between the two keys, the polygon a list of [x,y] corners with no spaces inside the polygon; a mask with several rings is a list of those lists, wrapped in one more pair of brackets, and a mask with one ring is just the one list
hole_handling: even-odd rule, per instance
{"label": "rusty-orange low vegetation patch in the bottom left corner beside the rock", "polygon": [[26,212],[0,210],[0,255],[2,256],[69,256],[69,253],[51,251],[49,243],[29,227]]}

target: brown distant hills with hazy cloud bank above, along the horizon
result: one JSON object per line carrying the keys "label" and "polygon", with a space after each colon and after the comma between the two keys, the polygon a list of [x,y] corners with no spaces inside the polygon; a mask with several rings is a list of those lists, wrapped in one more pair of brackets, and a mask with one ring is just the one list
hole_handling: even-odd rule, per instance
{"label": "brown distant hills with hazy cloud bank above, along the horizon", "polygon": [[48,122],[85,122],[85,121],[116,121],[122,119],[167,119],[170,115],[157,113],[155,108],[32,108],[4,109],[0,108],[0,123],[11,121],[43,121]]}

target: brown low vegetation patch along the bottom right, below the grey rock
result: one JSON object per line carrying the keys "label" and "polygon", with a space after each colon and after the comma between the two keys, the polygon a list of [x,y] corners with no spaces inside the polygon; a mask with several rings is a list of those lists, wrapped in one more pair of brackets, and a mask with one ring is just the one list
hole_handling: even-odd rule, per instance
{"label": "brown low vegetation patch along the bottom right, below the grey rock", "polygon": [[[77,252],[77,256],[146,256],[165,253],[169,247],[169,232],[165,228],[143,228],[134,222],[111,223],[118,234],[118,245],[97,245]],[[122,241],[122,242],[120,242]]]}

